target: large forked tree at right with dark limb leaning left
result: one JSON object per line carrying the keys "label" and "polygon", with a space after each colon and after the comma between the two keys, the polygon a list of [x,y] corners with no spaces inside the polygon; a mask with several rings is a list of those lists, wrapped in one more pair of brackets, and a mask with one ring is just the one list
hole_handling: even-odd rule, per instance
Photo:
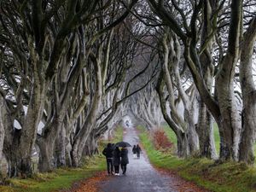
{"label": "large forked tree at right with dark limb leaning left", "polygon": [[[184,45],[184,58],[189,67],[190,72],[193,75],[193,79],[197,90],[199,90],[202,101],[207,105],[207,109],[212,113],[212,116],[218,124],[219,134],[221,137],[221,150],[220,158],[222,160],[228,160],[230,158],[236,160],[238,154],[238,143],[240,141],[241,122],[239,122],[239,114],[236,110],[236,98],[234,94],[234,76],[235,67],[239,60],[239,42],[241,40],[241,24],[242,24],[242,3],[241,1],[231,1],[230,5],[230,25],[227,41],[227,49],[225,55],[221,61],[219,61],[218,72],[216,73],[216,98],[212,96],[209,89],[209,83],[211,83],[211,75],[207,76],[207,71],[210,70],[211,65],[204,67],[203,63],[207,63],[203,60],[203,55],[206,55],[204,51],[207,51],[207,47],[211,44],[211,39],[216,34],[215,32],[222,32],[215,30],[218,27],[218,13],[222,10],[224,1],[199,1],[195,3],[185,2],[191,6],[193,11],[191,14],[186,15],[182,7],[183,4],[177,3],[177,1],[151,1],[149,0],[151,8],[154,13],[163,20],[166,25],[170,26],[173,32],[177,34],[177,37],[181,39]],[[172,5],[172,6],[170,6]],[[203,34],[207,34],[207,39],[203,40],[204,44],[199,44],[198,38],[198,23],[201,20],[201,12],[204,10],[205,17],[211,15],[209,5],[212,10],[215,10],[211,20],[211,28],[204,29]],[[177,11],[178,17],[172,13],[172,7]],[[207,14],[208,10],[208,14]],[[210,12],[209,12],[210,11]],[[190,20],[188,16],[191,16]],[[189,23],[188,23],[189,22]],[[204,24],[205,25],[205,24]],[[212,32],[211,32],[212,31]],[[203,43],[201,42],[201,43]],[[208,50],[210,50],[208,48]],[[208,58],[211,60],[211,55]],[[211,63],[211,62],[210,62]],[[204,68],[204,71],[202,71]],[[205,75],[204,75],[205,74]],[[209,79],[210,78],[210,79]],[[206,81],[206,79],[208,79]],[[208,86],[208,87],[207,87]],[[250,160],[246,160],[248,163],[252,163]]]}

